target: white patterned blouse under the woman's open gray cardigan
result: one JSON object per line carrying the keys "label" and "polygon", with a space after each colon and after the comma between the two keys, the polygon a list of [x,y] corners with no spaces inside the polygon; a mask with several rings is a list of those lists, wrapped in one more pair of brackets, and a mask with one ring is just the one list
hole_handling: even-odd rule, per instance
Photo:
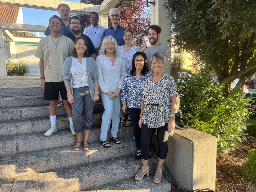
{"label": "white patterned blouse under the woman's open gray cardigan", "polygon": [[89,86],[86,75],[86,57],[82,58],[81,64],[79,63],[78,59],[72,57],[71,74],[73,88]]}

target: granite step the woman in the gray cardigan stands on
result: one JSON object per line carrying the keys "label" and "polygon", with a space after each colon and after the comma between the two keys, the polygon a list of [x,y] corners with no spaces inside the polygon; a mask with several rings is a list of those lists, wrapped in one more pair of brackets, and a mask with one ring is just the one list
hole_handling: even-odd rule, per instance
{"label": "granite step the woman in the gray cardigan stands on", "polygon": [[[91,141],[91,140],[89,140]],[[110,142],[110,141],[109,141]],[[0,179],[9,179],[18,176],[33,174],[35,172],[46,172],[76,164],[91,163],[104,159],[115,159],[126,155],[134,156],[136,152],[135,140],[125,138],[121,144],[110,142],[110,148],[104,148],[99,141],[90,142],[88,152],[73,150],[73,145],[58,147],[41,151],[18,153],[0,157]]]}

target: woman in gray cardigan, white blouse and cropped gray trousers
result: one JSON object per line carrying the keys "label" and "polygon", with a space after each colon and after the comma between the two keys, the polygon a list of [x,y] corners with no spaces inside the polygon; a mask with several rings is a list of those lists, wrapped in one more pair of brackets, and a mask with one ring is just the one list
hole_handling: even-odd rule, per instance
{"label": "woman in gray cardigan, white blouse and cropped gray trousers", "polygon": [[[99,100],[99,73],[93,58],[88,56],[87,41],[84,37],[76,38],[70,57],[63,65],[63,79],[67,90],[67,101],[72,106],[73,126],[77,142],[74,151],[80,149],[82,129],[84,129],[83,150],[90,148],[88,137],[92,124],[94,102]],[[81,125],[82,112],[84,118]]]}

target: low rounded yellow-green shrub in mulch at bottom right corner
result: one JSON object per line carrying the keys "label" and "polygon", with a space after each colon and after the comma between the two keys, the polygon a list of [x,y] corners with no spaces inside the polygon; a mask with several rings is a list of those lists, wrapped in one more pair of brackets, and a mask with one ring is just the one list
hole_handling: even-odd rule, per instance
{"label": "low rounded yellow-green shrub in mulch at bottom right corner", "polygon": [[251,183],[256,183],[256,149],[251,149],[247,154],[248,163],[244,163],[242,175]]}

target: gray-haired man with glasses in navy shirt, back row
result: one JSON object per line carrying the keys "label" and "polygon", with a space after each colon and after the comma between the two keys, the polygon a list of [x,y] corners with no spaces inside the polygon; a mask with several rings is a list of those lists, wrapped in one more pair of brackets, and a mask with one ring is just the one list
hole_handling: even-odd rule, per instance
{"label": "gray-haired man with glasses in navy shirt, back row", "polygon": [[111,26],[103,32],[101,42],[104,37],[111,35],[116,39],[118,46],[125,45],[123,36],[126,29],[119,25],[120,11],[118,8],[111,8],[109,10],[109,19],[111,20]]}

